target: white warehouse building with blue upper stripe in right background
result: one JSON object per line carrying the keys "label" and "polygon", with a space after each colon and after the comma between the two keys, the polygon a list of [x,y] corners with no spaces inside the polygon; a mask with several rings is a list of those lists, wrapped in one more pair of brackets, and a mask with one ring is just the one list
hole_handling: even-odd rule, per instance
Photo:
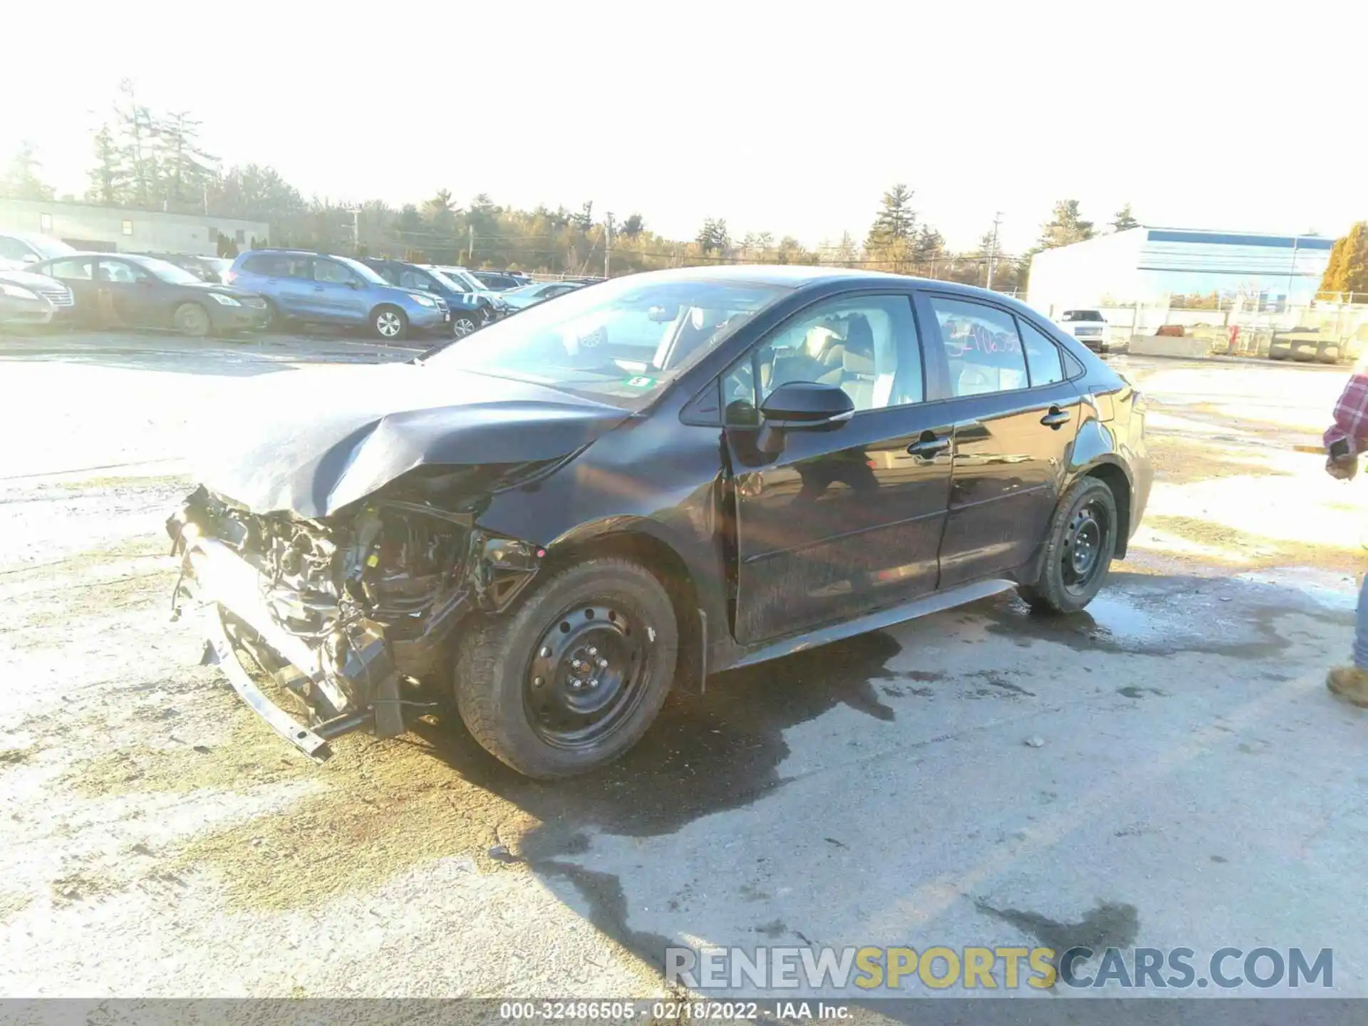
{"label": "white warehouse building with blue upper stripe in right background", "polygon": [[1026,294],[1049,317],[1094,306],[1181,306],[1189,298],[1305,306],[1334,239],[1138,227],[1047,249],[1031,259]]}

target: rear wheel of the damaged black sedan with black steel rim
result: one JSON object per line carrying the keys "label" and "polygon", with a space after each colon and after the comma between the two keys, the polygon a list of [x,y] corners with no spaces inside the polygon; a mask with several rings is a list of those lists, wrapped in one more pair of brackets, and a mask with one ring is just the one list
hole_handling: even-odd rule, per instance
{"label": "rear wheel of the damaged black sedan with black steel rim", "polygon": [[1074,482],[1049,521],[1040,579],[1019,587],[1021,596],[1038,611],[1081,610],[1107,580],[1118,527],[1116,497],[1107,483],[1097,477]]}

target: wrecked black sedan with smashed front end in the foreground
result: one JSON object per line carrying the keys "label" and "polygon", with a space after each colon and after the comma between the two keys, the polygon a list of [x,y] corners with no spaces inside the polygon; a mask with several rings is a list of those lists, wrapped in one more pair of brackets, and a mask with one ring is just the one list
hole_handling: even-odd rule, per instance
{"label": "wrecked black sedan with smashed front end in the foreground", "polygon": [[895,275],[633,275],[306,384],[212,425],[167,527],[230,681],[319,759],[454,705],[514,769],[581,773],[720,670],[1007,588],[1079,610],[1149,495],[1124,379]]}

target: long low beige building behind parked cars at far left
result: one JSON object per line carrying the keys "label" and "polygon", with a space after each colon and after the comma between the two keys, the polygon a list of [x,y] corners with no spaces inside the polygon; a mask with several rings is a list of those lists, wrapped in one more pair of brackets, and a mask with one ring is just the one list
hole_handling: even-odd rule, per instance
{"label": "long low beige building behind parked cars at far left", "polygon": [[215,256],[220,234],[242,250],[252,245],[252,239],[259,244],[268,241],[271,226],[260,220],[159,213],[85,202],[0,200],[0,233],[4,231],[51,235],[77,249]]}

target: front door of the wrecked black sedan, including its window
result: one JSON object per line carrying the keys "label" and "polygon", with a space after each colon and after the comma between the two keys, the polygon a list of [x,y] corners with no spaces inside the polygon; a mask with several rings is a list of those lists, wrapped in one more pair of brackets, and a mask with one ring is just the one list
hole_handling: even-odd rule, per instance
{"label": "front door of the wrecked black sedan, including its window", "polygon": [[[949,498],[951,425],[925,402],[911,295],[847,294],[791,317],[722,378],[735,497],[736,637],[804,631],[933,591]],[[834,383],[855,415],[758,451],[780,384]]]}

